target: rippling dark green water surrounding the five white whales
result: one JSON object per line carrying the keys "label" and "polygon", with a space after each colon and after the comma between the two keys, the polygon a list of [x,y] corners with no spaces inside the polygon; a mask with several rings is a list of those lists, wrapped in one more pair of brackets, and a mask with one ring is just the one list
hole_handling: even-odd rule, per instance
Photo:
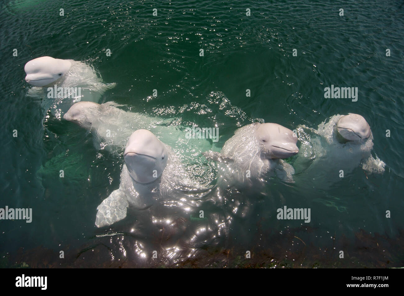
{"label": "rippling dark green water surrounding the five white whales", "polygon": [[[261,254],[278,246],[284,250],[278,259],[290,257],[303,246],[293,241],[297,236],[311,246],[310,256],[327,249],[331,262],[340,262],[337,251],[350,246],[350,258],[361,258],[368,267],[376,261],[404,263],[400,247],[393,243],[385,244],[383,252],[388,254],[372,249],[368,257],[360,257],[356,248],[370,244],[357,243],[360,229],[387,241],[402,237],[400,1],[15,0],[2,1],[1,7],[0,208],[33,209],[32,223],[0,220],[2,256],[40,247],[55,256],[70,250],[72,258],[81,256],[82,262],[95,265],[121,259],[149,266],[150,258],[141,255],[150,257],[158,250],[162,265],[185,258],[212,265],[209,258],[215,254],[210,248],[242,256],[246,250]],[[64,16],[59,16],[60,8]],[[293,48],[297,57],[292,56]],[[386,163],[385,173],[365,174],[358,167],[326,191],[301,190],[298,174],[295,184],[271,179],[259,191],[220,193],[225,204],[213,202],[213,191],[188,217],[169,209],[161,214],[157,206],[148,214],[129,210],[126,220],[97,229],[96,208],[119,187],[122,154],[97,151],[92,135],[78,126],[49,114],[43,118],[40,100],[27,97],[31,86],[23,70],[27,61],[40,56],[83,61],[93,65],[104,82],[115,82],[99,103],[114,101],[133,112],[179,117],[183,125],[218,126],[219,149],[238,127],[257,119],[290,129],[298,124],[316,128],[332,115],[359,113],[370,124],[373,151]],[[358,87],[358,101],[324,99],[324,87],[331,84]],[[154,89],[157,97],[152,97]],[[385,136],[387,129],[391,137]],[[61,166],[69,177],[59,178]],[[277,220],[276,209],[284,205],[311,208],[311,222]],[[195,220],[199,209],[205,210],[207,220]],[[391,218],[385,217],[386,210]],[[159,214],[177,219],[171,234],[170,227],[148,223]],[[215,219],[226,222],[219,227]],[[203,237],[196,234],[200,227],[220,231]],[[291,239],[289,229],[294,229]],[[379,237],[380,245],[383,239]],[[87,257],[88,248],[102,250],[98,257]]]}

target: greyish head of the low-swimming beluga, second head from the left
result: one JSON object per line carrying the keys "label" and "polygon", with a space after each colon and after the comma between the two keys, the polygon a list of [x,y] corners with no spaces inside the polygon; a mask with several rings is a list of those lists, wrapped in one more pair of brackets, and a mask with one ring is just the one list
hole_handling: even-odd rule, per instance
{"label": "greyish head of the low-swimming beluga, second head from the left", "polygon": [[65,120],[72,121],[82,128],[90,130],[93,121],[97,119],[97,110],[100,104],[94,102],[77,102],[63,115]]}

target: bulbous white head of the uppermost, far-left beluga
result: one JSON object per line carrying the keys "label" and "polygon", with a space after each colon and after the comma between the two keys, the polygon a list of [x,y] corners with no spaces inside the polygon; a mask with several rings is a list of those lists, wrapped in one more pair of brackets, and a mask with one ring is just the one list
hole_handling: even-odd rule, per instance
{"label": "bulbous white head of the uppermost, far-left beluga", "polygon": [[61,79],[72,63],[52,57],[39,57],[25,64],[25,81],[34,86],[48,86]]}

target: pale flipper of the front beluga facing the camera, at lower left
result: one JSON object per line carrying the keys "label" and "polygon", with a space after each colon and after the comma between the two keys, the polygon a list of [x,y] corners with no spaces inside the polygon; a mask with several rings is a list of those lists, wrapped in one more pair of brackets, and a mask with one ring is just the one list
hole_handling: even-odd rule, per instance
{"label": "pale flipper of the front beluga facing the camera, at lower left", "polygon": [[95,225],[97,227],[108,226],[124,219],[128,206],[128,199],[124,191],[120,189],[112,191],[97,207],[98,212]]}

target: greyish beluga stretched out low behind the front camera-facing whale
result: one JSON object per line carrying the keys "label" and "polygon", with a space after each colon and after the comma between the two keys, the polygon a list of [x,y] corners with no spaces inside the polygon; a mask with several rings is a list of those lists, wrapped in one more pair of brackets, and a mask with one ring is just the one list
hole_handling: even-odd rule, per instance
{"label": "greyish beluga stretched out low behind the front camera-facing whale", "polygon": [[63,118],[91,132],[96,149],[114,151],[125,147],[130,135],[137,129],[150,130],[164,143],[183,151],[183,154],[195,155],[212,147],[213,143],[208,139],[186,139],[186,128],[178,124],[179,118],[163,119],[118,107],[113,102],[78,102]]}

